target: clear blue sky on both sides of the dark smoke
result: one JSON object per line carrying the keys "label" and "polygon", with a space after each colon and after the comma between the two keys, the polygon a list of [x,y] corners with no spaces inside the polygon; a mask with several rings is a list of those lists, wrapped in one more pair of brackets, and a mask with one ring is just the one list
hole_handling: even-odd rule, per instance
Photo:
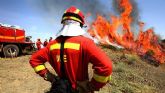
{"label": "clear blue sky on both sides of the dark smoke", "polygon": [[[112,0],[100,0],[99,2],[89,0],[91,4],[86,4],[88,0],[84,0],[85,3],[81,0],[75,1],[0,0],[0,23],[18,25],[25,29],[26,36],[32,36],[33,41],[36,41],[37,38],[41,38],[44,41],[49,39],[49,37],[55,37],[62,27],[61,17],[63,12],[72,4],[79,6],[85,13],[91,12],[94,9],[100,13],[108,11],[110,14],[111,10],[113,10]],[[145,29],[153,27],[155,33],[160,35],[162,39],[165,39],[165,0],[135,1],[139,9],[140,20],[146,24]],[[92,2],[97,4],[94,5]],[[97,6],[106,6],[106,9]],[[87,20],[90,21],[90,19]]]}

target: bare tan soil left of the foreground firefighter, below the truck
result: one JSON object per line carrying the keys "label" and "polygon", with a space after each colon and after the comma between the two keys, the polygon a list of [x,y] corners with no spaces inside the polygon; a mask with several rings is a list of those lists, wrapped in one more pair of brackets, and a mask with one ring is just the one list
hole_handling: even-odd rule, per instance
{"label": "bare tan soil left of the foreground firefighter, below the truck", "polygon": [[0,93],[44,93],[50,83],[34,73],[30,56],[0,58]]}

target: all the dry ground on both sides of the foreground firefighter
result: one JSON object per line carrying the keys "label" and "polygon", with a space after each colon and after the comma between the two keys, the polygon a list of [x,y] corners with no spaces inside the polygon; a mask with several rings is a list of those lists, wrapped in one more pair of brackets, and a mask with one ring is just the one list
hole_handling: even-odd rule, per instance
{"label": "all the dry ground on both sides of the foreground firefighter", "polygon": [[[96,93],[165,93],[165,65],[155,67],[136,54],[127,52],[123,55],[122,51],[102,49],[113,61],[113,74],[112,81]],[[0,93],[44,93],[49,90],[50,83],[34,73],[29,58],[29,55],[0,58]],[[91,65],[89,73],[91,76]]]}

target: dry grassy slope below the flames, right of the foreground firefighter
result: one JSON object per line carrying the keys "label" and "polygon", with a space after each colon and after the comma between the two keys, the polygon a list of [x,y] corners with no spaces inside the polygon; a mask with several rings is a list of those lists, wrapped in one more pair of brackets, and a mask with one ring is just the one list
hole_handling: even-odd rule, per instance
{"label": "dry grassy slope below the flames, right of the foreground firefighter", "polygon": [[110,92],[99,93],[165,93],[165,70],[141,60],[136,54],[103,48],[113,61]]}

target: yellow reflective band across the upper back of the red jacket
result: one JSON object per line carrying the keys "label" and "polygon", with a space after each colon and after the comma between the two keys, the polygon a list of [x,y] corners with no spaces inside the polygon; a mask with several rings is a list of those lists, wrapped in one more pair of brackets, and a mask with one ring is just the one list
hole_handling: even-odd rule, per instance
{"label": "yellow reflective band across the upper back of the red jacket", "polygon": [[[50,46],[50,50],[60,49],[60,47],[61,47],[60,43],[53,44],[53,45]],[[79,50],[80,49],[80,44],[77,44],[77,43],[64,43],[64,49],[66,49],[66,48]]]}

